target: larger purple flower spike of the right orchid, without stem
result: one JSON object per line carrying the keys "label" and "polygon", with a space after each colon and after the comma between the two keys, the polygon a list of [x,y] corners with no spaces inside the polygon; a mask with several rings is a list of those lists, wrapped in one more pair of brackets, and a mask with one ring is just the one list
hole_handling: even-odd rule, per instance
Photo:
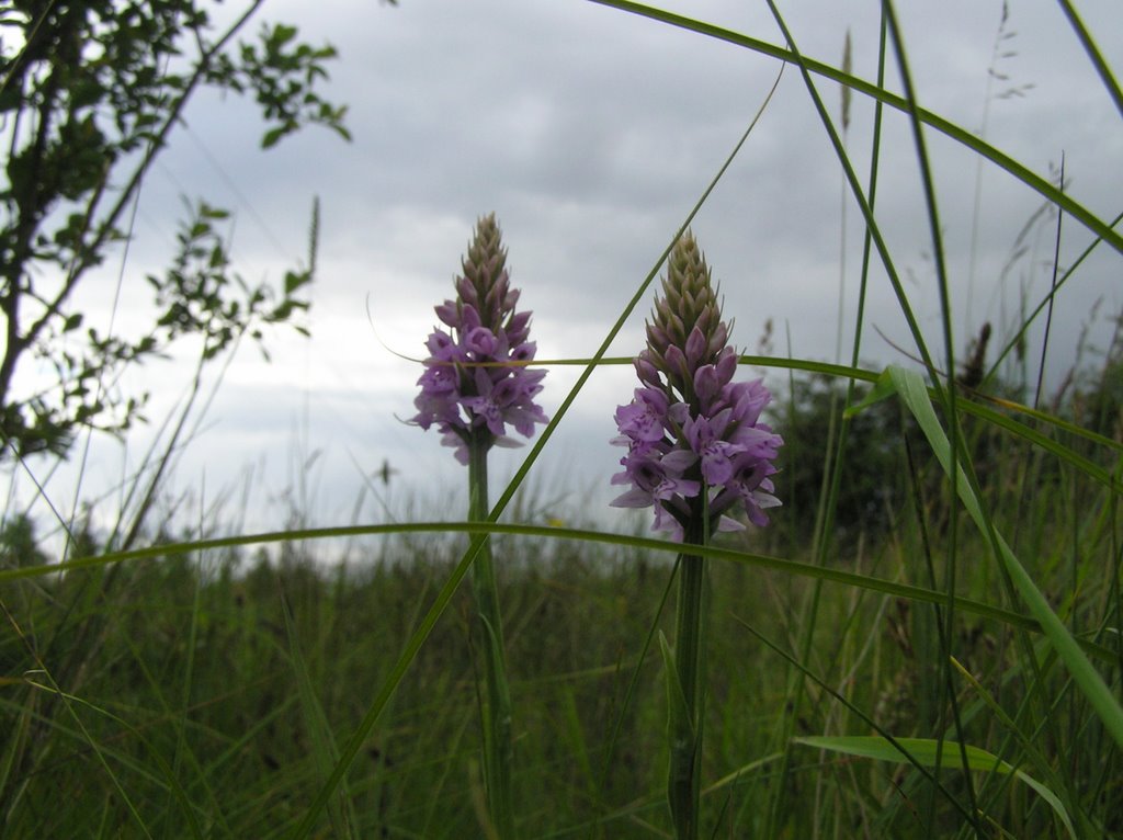
{"label": "larger purple flower spike of the right orchid, without stem", "polygon": [[612,441],[628,447],[612,483],[630,487],[612,504],[654,505],[654,528],[677,539],[687,528],[695,535],[741,529],[729,515],[738,511],[767,524],[765,511],[780,503],[769,476],[784,441],[760,422],[772,394],[760,380],[732,381],[731,327],[687,232],[672,252],[647,347],[636,359],[643,387],[617,409],[620,436]]}

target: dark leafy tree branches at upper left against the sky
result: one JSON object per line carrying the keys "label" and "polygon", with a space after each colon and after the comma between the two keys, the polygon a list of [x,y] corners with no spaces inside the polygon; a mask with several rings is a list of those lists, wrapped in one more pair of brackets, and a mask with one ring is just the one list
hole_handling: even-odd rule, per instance
{"label": "dark leafy tree branches at upper left against the sky", "polygon": [[[200,337],[209,359],[307,308],[311,267],[289,272],[281,289],[247,284],[216,229],[225,211],[198,200],[171,267],[147,277],[150,329],[104,335],[72,303],[124,246],[130,203],[201,89],[252,95],[265,147],[309,124],[347,137],[344,109],[317,92],[330,46],[301,43],[284,25],[237,40],[263,1],[240,11],[217,0],[0,4],[0,460],[65,455],[83,427],[128,428],[144,395],[113,383],[177,338]],[[218,10],[232,22],[216,26]],[[35,375],[17,376],[24,368]]]}

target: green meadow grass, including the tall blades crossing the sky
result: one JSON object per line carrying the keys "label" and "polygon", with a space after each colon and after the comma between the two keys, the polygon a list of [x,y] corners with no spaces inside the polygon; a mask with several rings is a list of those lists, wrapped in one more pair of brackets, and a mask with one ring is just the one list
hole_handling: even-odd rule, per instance
{"label": "green meadow grass, including the tall blades crossing the sky", "polygon": [[[1024,389],[1013,400],[989,377],[971,389],[956,378],[925,138],[942,133],[1035,190],[1092,231],[1089,249],[1123,252],[1117,220],[920,108],[907,75],[900,95],[884,76],[871,83],[803,56],[789,34],[766,44],[603,4],[800,69],[869,234],[862,289],[878,262],[926,376],[859,365],[860,309],[849,365],[743,359],[849,390],[827,451],[786,453],[786,474],[823,466],[816,497],[774,529],[699,547],[711,566],[705,836],[1123,837],[1120,402],[1096,416],[1070,394],[1039,410],[1021,404]],[[1123,101],[1094,39],[1061,6]],[[900,72],[907,55],[886,9],[879,57]],[[822,103],[823,79],[875,99],[878,126],[885,107],[915,128],[942,291],[934,339],[878,229],[876,181],[858,177]],[[506,622],[518,836],[670,836],[656,639],[673,634],[674,546],[530,526],[518,505],[504,512],[588,376],[626,362],[606,350],[694,212],[582,362],[487,522],[286,529],[116,553],[88,542],[85,557],[62,567],[7,551],[3,836],[486,836],[482,642],[459,587],[485,540]],[[1054,294],[1079,262],[1056,277]],[[1004,338],[1010,353],[1019,335]],[[1115,348],[1101,384],[1120,360]],[[879,468],[897,492],[887,527],[853,528],[834,514],[866,455],[849,441],[886,405],[894,458]],[[806,410],[793,401],[786,416],[794,423]],[[784,515],[800,527],[785,528]],[[344,537],[364,538],[366,556],[353,549],[354,561],[332,569],[323,558]],[[265,545],[277,547],[272,559],[253,554]]]}

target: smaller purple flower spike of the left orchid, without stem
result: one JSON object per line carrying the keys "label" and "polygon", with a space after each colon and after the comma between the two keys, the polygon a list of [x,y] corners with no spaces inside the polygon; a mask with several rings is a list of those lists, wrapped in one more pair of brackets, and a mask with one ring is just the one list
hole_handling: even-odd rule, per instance
{"label": "smaller purple flower spike of the left orchid, without stem", "polygon": [[433,328],[429,357],[418,380],[421,393],[410,420],[436,426],[456,458],[468,463],[468,447],[517,446],[508,426],[530,437],[548,418],[535,402],[545,371],[531,371],[536,346],[528,341],[530,312],[515,312],[519,291],[511,287],[506,249],[494,213],[476,222],[473,241],[456,277],[456,299],[436,308],[447,329]]}

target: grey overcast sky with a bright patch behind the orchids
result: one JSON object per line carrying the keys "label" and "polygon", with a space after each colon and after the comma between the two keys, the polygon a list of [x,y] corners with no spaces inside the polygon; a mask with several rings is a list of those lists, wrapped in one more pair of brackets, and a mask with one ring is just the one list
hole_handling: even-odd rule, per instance
{"label": "grey overcast sky with a bright patch behind the orchids", "polygon": [[[1105,219],[1123,209],[1123,116],[1056,2],[1010,3],[1006,31],[1013,35],[996,65],[1005,79],[988,74],[1001,2],[898,6],[924,107],[970,130],[986,119],[987,139],[1042,175],[1063,152],[1072,197]],[[1123,7],[1119,0],[1078,6],[1120,75]],[[804,54],[840,64],[849,29],[855,74],[875,79],[877,2],[782,7]],[[763,2],[675,8],[782,43]],[[193,103],[188,127],[153,170],[126,265],[126,289],[138,296],[144,273],[173,248],[184,193],[235,211],[234,253],[249,280],[279,281],[286,265],[301,261],[313,195],[322,208],[311,340],[277,334],[271,365],[244,348],[177,466],[175,486],[213,499],[253,475],[247,501],[238,496],[229,505],[247,509],[247,528],[274,528],[283,523],[282,492],[296,486],[301,471],[294,464],[314,456],[307,472],[309,519],[335,524],[351,518],[364,473],[385,459],[400,473],[389,489],[375,486],[395,515],[457,518],[466,504],[465,471],[436,433],[395,419],[412,413],[419,375],[417,364],[395,354],[423,354],[432,307],[450,295],[476,217],[497,214],[521,305],[535,311],[539,357],[591,355],[748,126],[780,64],[582,0],[401,0],[396,8],[374,0],[274,0],[264,16],[338,47],[325,92],[349,106],[354,141],[308,129],[263,153],[252,103],[208,95]],[[889,80],[900,88],[893,69]],[[837,118],[838,86],[816,83]],[[1007,95],[1015,90],[1020,95]],[[856,95],[848,144],[864,180],[871,121],[871,102]],[[998,337],[1010,335],[1020,298],[1032,305],[1046,293],[1042,266],[1051,258],[1054,222],[1034,231],[1026,255],[1004,271],[1039,198],[987,164],[976,213],[976,158],[934,131],[926,138],[961,353],[984,320]],[[883,143],[878,218],[930,345],[942,356],[931,239],[904,117],[887,112]],[[849,358],[861,227],[848,198],[843,264],[840,173],[804,82],[788,67],[693,225],[742,349],[756,351],[772,320],[777,355],[791,347],[795,357],[833,360],[843,275],[842,350]],[[1066,220],[1061,264],[1089,240]],[[1054,313],[1052,376],[1069,364],[1098,298],[1102,327],[1120,311],[1121,277],[1120,256],[1103,249],[1066,289]],[[107,271],[104,285],[91,286],[91,308],[112,281]],[[870,282],[862,359],[906,362],[873,329],[913,349],[884,272],[876,268]],[[613,354],[633,355],[642,346],[650,304],[649,295]],[[144,310],[127,311],[124,323],[130,312],[141,318]],[[153,392],[153,427],[186,378],[171,364],[136,372],[136,386]],[[575,378],[574,368],[550,371],[542,395],[548,413]],[[630,399],[633,378],[628,367],[594,374],[536,466],[532,483],[542,499],[562,500],[554,510],[563,515],[586,497],[596,504],[611,497],[606,480],[620,455],[608,444],[612,413]],[[127,449],[98,442],[83,495],[111,485],[122,465],[136,463],[152,430],[141,429]],[[493,496],[524,453],[495,454]],[[64,508],[72,481],[61,472],[49,485]],[[407,510],[408,500],[419,508]],[[111,517],[112,502],[103,508]],[[368,497],[359,518],[384,515]]]}

